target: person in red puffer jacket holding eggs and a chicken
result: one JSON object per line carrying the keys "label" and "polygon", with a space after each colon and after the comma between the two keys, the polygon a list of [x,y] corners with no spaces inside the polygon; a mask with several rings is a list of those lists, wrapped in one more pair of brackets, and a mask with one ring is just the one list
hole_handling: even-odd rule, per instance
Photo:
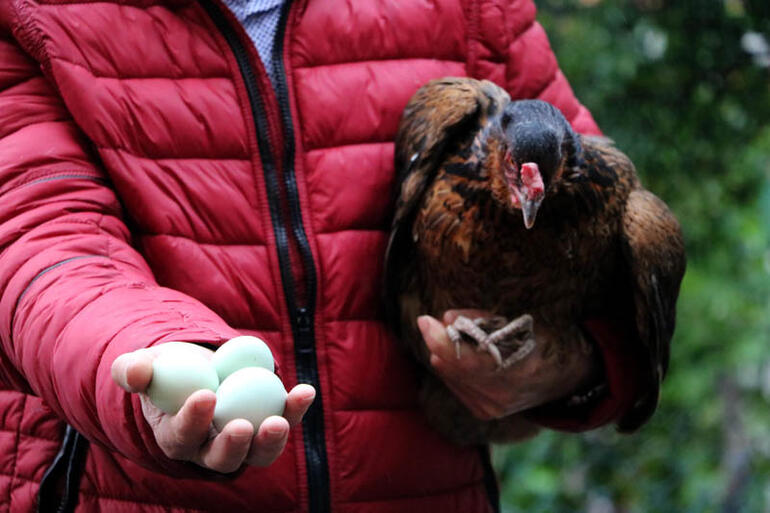
{"label": "person in red puffer jacket holding eggs and a chicken", "polygon": [[[487,448],[424,421],[380,280],[392,140],[420,85],[490,79],[599,133],[534,16],[531,0],[2,2],[0,510],[497,509]],[[591,429],[648,393],[623,329],[587,321],[601,358],[580,381],[606,392],[576,408],[576,379],[536,356],[506,370],[526,389],[491,387],[484,360],[441,376],[480,418]],[[140,393],[163,344],[241,334],[270,346],[284,417],[214,436],[212,393],[175,416]]]}

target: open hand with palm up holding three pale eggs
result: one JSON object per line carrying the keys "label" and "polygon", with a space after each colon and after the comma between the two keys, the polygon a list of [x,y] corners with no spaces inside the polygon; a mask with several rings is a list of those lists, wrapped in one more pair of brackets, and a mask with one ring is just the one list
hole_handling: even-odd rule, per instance
{"label": "open hand with palm up holding three pale eggs", "polygon": [[[152,379],[152,361],[164,351],[165,344],[122,354],[112,363],[112,379],[124,390],[139,393],[142,413],[152,427],[155,440],[171,459],[191,461],[217,472],[234,472],[244,463],[265,467],[272,464],[283,451],[289,429],[302,420],[315,398],[310,385],[297,385],[286,398],[283,417],[272,416],[262,422],[254,433],[251,423],[235,419],[222,432],[214,429],[216,395],[210,390],[198,390],[187,398],[176,415],[158,409],[145,394]],[[210,359],[213,351],[196,346]]]}

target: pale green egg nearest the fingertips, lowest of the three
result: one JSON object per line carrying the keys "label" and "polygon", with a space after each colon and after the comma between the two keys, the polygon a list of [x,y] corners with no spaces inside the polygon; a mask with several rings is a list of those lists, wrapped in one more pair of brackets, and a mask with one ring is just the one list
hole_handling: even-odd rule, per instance
{"label": "pale green egg nearest the fingertips, lowest of the three", "polygon": [[254,431],[271,415],[282,415],[286,389],[281,380],[262,367],[239,369],[219,384],[214,427],[222,431],[233,419],[246,419]]}

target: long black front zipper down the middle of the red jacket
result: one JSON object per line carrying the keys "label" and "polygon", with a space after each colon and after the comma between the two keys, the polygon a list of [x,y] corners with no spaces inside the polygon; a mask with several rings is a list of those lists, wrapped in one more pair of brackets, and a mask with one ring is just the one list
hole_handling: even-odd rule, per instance
{"label": "long black front zipper down the middle of the red jacket", "polygon": [[[302,419],[302,439],[308,474],[309,511],[310,513],[327,513],[331,511],[329,465],[324,435],[322,391],[315,351],[316,269],[310,243],[302,223],[297,180],[294,173],[294,126],[289,105],[286,70],[283,62],[283,44],[291,1],[285,2],[281,8],[281,18],[272,55],[276,97],[284,132],[283,172],[280,177],[273,149],[270,147],[269,123],[265,112],[264,99],[260,95],[254,66],[251,63],[246,47],[230,25],[219,5],[217,5],[218,2],[216,0],[200,0],[200,3],[233,51],[243,76],[252,115],[256,123],[257,146],[267,186],[267,198],[278,251],[281,284],[286,298],[286,306],[294,337],[297,381],[299,383],[308,383],[316,389],[316,399]],[[284,212],[281,206],[282,193],[285,193],[285,198],[288,202],[288,223],[284,219]],[[287,233],[287,225],[290,227],[291,233]],[[293,241],[290,237],[293,237]],[[300,293],[292,272],[290,255],[292,242],[296,244],[297,251],[299,252],[302,276],[304,277],[301,285],[304,289],[304,294],[301,294],[301,296],[304,296],[303,303],[298,302]]]}

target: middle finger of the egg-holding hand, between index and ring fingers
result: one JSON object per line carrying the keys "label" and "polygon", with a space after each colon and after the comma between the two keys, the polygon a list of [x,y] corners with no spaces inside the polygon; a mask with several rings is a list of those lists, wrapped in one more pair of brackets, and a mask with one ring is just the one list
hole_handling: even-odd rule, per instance
{"label": "middle finger of the egg-holding hand, between index and ring fingers", "polygon": [[235,472],[249,454],[254,428],[246,419],[235,419],[199,451],[195,463],[217,472]]}

